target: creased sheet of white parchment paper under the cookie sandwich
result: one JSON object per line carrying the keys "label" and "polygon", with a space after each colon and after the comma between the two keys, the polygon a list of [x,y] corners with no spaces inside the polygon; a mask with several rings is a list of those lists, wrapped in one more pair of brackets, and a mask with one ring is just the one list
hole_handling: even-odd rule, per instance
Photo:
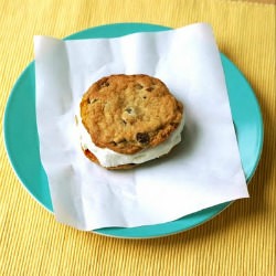
{"label": "creased sheet of white parchment paper under the cookie sandwich", "polygon": [[[35,36],[40,151],[56,219],[79,230],[163,223],[248,197],[220,53],[209,24],[117,39]],[[98,78],[149,74],[185,106],[166,158],[108,171],[87,160],[74,116]]]}

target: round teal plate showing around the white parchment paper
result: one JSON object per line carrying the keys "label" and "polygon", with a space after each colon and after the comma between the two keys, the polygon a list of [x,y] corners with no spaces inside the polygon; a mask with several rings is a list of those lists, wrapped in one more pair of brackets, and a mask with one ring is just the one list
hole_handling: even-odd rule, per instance
{"label": "round teal plate showing around the white parchment paper", "polygon": [[[74,33],[65,40],[116,38],[135,32],[164,30],[170,30],[170,28],[141,23],[118,23],[87,29]],[[221,60],[225,73],[242,164],[248,183],[262,153],[262,114],[254,92],[243,74],[224,54],[221,54]],[[30,63],[22,72],[12,88],[6,107],[3,130],[7,152],[18,178],[38,202],[50,212],[53,212],[47,177],[40,159],[35,118],[34,62]],[[108,227],[94,232],[126,238],[170,235],[206,222],[227,208],[230,203],[215,205],[168,223],[129,229]]]}

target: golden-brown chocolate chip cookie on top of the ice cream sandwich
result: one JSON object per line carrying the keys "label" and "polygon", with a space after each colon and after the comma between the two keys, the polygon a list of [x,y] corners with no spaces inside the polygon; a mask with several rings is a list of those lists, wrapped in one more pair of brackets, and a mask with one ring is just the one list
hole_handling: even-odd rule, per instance
{"label": "golden-brown chocolate chip cookie on top of the ice cream sandwich", "polygon": [[81,102],[93,142],[131,155],[164,141],[181,121],[183,106],[158,78],[110,75],[94,83]]}

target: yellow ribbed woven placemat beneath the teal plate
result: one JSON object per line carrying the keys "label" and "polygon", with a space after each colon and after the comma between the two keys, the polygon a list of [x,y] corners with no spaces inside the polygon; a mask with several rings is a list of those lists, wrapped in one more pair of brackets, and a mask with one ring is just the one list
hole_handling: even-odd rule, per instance
{"label": "yellow ribbed woven placemat beneath the teal plate", "polygon": [[191,231],[144,241],[104,237],[56,223],[20,184],[1,137],[0,275],[275,275],[274,4],[227,0],[0,0],[0,10],[1,118],[12,85],[33,59],[34,34],[63,38],[113,22],[177,28],[204,21],[213,25],[221,51],[252,84],[265,125],[263,157],[250,185],[251,199],[235,202]]}

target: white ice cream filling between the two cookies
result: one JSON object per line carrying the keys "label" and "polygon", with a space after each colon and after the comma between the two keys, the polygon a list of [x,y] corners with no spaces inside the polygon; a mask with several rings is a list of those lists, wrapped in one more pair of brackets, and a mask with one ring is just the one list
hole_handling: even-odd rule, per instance
{"label": "white ice cream filling between the two cookies", "polygon": [[134,155],[124,155],[115,152],[108,148],[99,148],[97,147],[91,138],[91,135],[87,132],[86,128],[82,124],[82,119],[77,119],[81,145],[84,150],[88,149],[95,157],[98,159],[99,163],[103,167],[117,167],[120,164],[128,163],[144,163],[146,161],[159,158],[163,155],[169,153],[169,151],[181,141],[181,132],[184,127],[184,115],[182,116],[182,120],[179,124],[178,128],[169,136],[169,138],[159,144],[153,148],[148,148],[136,152]]}

